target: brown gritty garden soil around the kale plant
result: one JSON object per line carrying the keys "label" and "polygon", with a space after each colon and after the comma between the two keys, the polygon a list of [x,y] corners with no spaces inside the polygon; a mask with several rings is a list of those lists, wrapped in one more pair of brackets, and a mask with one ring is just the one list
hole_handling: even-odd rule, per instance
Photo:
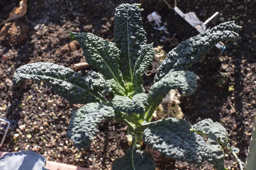
{"label": "brown gritty garden soil around the kale plant", "polygon": [[[173,0],[166,0],[174,6]],[[0,1],[0,19],[8,17],[18,0]],[[29,28],[28,37],[15,44],[0,44],[0,117],[17,121],[17,127],[9,131],[1,150],[13,152],[23,149],[35,150],[47,160],[89,167],[94,170],[111,169],[113,160],[125,154],[128,148],[125,125],[115,121],[105,121],[99,125],[101,131],[87,149],[78,150],[67,139],[65,133],[70,120],[70,112],[81,105],[70,105],[67,100],[55,95],[45,83],[25,80],[18,87],[12,87],[12,75],[18,67],[31,62],[53,62],[73,68],[75,63],[85,62],[81,48],[72,42],[69,31],[92,32],[107,40],[113,39],[113,13],[121,3],[140,3],[139,0],[28,0],[25,16],[17,21]],[[165,51],[175,47],[170,39],[178,42],[189,38],[177,34],[169,25],[171,9],[161,0],[142,0],[143,23],[149,42],[154,47],[163,45]],[[194,11],[205,21],[216,11],[220,16],[210,23],[215,26],[229,20],[236,20],[243,26],[237,42],[227,42],[220,57],[207,54],[204,62],[189,68],[200,77],[198,90],[181,99],[181,108],[192,125],[201,119],[211,118],[220,122],[230,134],[230,144],[238,147],[238,154],[245,161],[250,142],[254,116],[256,116],[256,1],[255,0],[177,0],[177,7],[184,13]],[[147,15],[157,11],[169,34],[157,31],[147,21]],[[167,40],[164,40],[164,37]],[[169,39],[168,39],[169,38]],[[80,70],[96,70],[90,67]],[[219,84],[217,74],[230,73]],[[145,76],[145,87],[153,83],[154,75]],[[223,81],[222,81],[223,82]],[[24,125],[24,126],[20,126]],[[19,137],[13,139],[13,134]],[[150,148],[146,148],[151,150]],[[159,170],[195,170],[195,165],[166,159],[151,150]],[[225,164],[228,169],[238,170],[238,164],[228,152]],[[211,170],[204,163],[199,169]]]}

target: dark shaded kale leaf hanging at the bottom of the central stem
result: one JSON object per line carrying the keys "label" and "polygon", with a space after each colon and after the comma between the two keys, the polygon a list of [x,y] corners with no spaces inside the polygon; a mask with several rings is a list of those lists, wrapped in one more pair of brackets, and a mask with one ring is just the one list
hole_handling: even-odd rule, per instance
{"label": "dark shaded kale leaf hanging at the bottom of the central stem", "polygon": [[129,147],[125,156],[113,161],[112,170],[154,170],[155,164],[150,153]]}

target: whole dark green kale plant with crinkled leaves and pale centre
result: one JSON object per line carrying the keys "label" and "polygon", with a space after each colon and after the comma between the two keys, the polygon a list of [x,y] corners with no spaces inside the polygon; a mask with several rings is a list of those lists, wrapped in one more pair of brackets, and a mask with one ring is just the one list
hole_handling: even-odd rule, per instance
{"label": "whole dark green kale plant with crinkled leaves and pale centre", "polygon": [[[189,38],[169,52],[157,70],[154,85],[146,94],[143,74],[155,51],[148,44],[143,29],[140,4],[122,4],[114,16],[113,42],[108,42],[91,33],[70,32],[84,51],[86,61],[99,69],[87,77],[61,65],[37,62],[23,65],[15,71],[13,84],[20,79],[45,81],[55,93],[71,104],[85,104],[72,112],[67,137],[79,149],[90,145],[93,136],[99,133],[97,125],[105,119],[115,119],[128,126],[133,136],[132,146],[126,155],[113,161],[113,170],[154,170],[150,153],[141,150],[144,142],[166,157],[201,166],[204,161],[215,169],[224,170],[224,148],[236,156],[239,149],[228,143],[228,133],[218,122],[205,119],[189,125],[183,119],[167,118],[150,122],[152,114],[171,89],[178,89],[182,96],[193,94],[198,76],[187,69],[202,62],[204,55],[218,42],[236,40],[241,29],[234,21]],[[111,101],[105,94],[113,94]],[[203,137],[207,136],[208,142]]]}

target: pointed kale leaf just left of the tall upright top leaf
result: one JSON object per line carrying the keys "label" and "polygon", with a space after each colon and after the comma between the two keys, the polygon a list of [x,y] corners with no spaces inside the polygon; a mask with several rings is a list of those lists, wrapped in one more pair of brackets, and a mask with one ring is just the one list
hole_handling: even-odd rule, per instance
{"label": "pointed kale leaf just left of the tall upright top leaf", "polygon": [[106,79],[115,79],[124,86],[118,65],[120,50],[115,43],[108,42],[92,33],[70,32],[70,36],[79,42],[88,64],[98,68]]}

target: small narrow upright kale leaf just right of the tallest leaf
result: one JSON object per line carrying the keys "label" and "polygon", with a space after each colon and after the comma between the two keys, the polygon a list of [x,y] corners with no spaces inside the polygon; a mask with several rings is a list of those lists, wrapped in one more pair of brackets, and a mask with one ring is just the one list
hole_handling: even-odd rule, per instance
{"label": "small narrow upright kale leaf just right of the tallest leaf", "polygon": [[138,59],[133,69],[132,81],[133,81],[134,87],[144,84],[142,76],[145,73],[146,68],[152,65],[153,63],[152,58],[154,58],[154,54],[156,54],[156,51],[154,51],[153,43],[140,46],[140,50],[137,53]]}

